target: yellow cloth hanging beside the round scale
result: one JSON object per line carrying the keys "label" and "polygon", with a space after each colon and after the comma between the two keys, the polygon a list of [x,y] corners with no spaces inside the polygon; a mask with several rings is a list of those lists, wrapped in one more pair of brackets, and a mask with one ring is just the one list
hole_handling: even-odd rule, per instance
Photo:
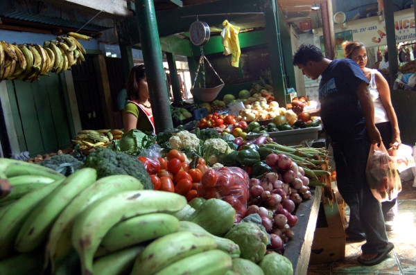
{"label": "yellow cloth hanging beside the round scale", "polygon": [[239,31],[240,28],[232,26],[227,20],[223,21],[223,31],[221,37],[223,37],[224,55],[231,54],[231,66],[239,67],[240,63],[240,42]]}

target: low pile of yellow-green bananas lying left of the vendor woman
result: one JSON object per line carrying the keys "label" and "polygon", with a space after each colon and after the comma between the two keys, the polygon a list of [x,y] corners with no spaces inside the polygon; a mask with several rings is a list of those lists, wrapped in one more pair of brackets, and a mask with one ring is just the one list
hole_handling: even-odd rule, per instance
{"label": "low pile of yellow-green bananas lying left of the vendor woman", "polygon": [[81,149],[106,148],[113,139],[121,139],[123,131],[119,129],[82,130],[73,137],[73,145],[80,145]]}

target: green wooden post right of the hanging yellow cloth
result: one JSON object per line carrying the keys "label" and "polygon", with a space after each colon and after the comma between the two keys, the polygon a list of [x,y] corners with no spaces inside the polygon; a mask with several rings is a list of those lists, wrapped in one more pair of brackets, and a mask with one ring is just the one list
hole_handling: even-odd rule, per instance
{"label": "green wooden post right of the hanging yellow cloth", "polygon": [[266,19],[266,33],[270,54],[270,69],[272,71],[273,93],[279,106],[286,108],[286,87],[283,79],[283,66],[280,56],[279,31],[277,29],[276,1],[267,0],[263,3]]}

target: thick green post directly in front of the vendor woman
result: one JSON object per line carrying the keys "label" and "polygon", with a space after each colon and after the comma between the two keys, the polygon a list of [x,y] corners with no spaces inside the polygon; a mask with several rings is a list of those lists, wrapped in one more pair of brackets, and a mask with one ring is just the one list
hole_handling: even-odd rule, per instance
{"label": "thick green post directly in front of the vendor woman", "polygon": [[146,66],[153,118],[156,132],[159,133],[173,128],[173,123],[156,24],[155,6],[152,0],[136,0],[135,6],[139,20],[141,51]]}

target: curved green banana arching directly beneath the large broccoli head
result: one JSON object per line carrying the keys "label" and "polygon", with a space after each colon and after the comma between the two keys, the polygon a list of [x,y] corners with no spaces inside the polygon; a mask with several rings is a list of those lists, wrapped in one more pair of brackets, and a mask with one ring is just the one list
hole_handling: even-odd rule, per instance
{"label": "curved green banana arching directly beneath the large broccoli head", "polygon": [[64,260],[71,250],[71,233],[73,222],[87,206],[107,195],[112,195],[125,190],[143,189],[143,184],[129,175],[113,175],[103,177],[85,188],[75,197],[60,213],[59,218],[53,223],[46,243],[46,262],[51,264],[52,273],[60,261]]}

